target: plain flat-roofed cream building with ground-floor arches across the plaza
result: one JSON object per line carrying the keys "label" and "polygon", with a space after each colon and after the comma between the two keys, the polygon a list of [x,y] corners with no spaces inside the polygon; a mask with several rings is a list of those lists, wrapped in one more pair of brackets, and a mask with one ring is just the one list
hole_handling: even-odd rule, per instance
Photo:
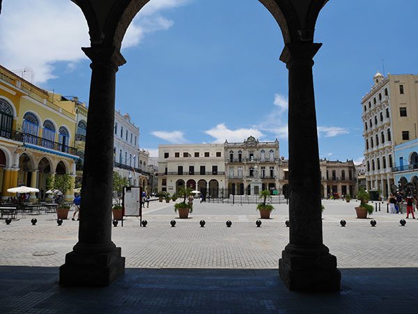
{"label": "plain flat-roofed cream building with ground-floor arches across the plaza", "polygon": [[224,144],[161,145],[158,157],[158,191],[187,186],[217,197],[225,190]]}

